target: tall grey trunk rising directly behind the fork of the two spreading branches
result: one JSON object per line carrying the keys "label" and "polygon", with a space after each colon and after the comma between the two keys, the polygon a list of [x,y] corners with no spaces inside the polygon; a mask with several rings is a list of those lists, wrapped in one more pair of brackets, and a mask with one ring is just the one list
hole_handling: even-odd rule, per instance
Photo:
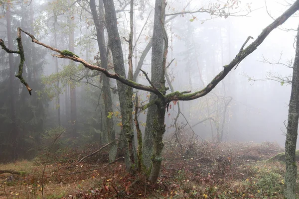
{"label": "tall grey trunk rising directly behind the fork of the two spreading branches", "polygon": [[[163,27],[161,21],[161,7],[162,0],[155,0],[154,8],[154,26],[152,34],[152,48],[151,48],[151,82],[152,84],[161,89],[161,74],[162,74],[162,61],[163,61]],[[158,97],[150,94],[149,101],[156,100]],[[157,115],[157,106],[152,105],[148,109],[146,130],[143,143],[143,159],[144,165],[149,169],[151,166],[151,156],[153,152],[153,136],[155,133],[155,123]],[[164,121],[164,120],[163,120]],[[164,125],[164,123],[163,123]]]}

